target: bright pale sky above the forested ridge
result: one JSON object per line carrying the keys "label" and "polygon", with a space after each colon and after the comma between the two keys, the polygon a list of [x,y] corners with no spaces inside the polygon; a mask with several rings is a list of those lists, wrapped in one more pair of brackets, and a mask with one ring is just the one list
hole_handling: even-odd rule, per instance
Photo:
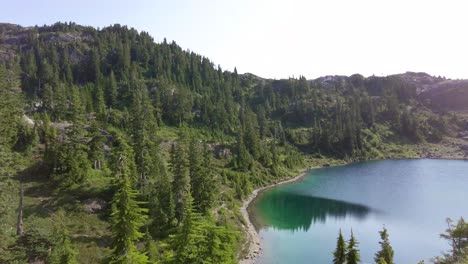
{"label": "bright pale sky above the forested ridge", "polygon": [[115,23],[265,78],[468,79],[466,0],[0,0],[0,22]]}

